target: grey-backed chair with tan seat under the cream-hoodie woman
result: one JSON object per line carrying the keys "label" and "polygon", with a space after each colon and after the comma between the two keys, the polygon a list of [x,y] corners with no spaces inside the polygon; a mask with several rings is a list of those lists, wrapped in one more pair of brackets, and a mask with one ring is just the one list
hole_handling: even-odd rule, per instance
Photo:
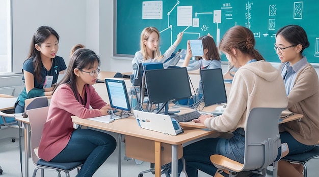
{"label": "grey-backed chair with tan seat under the cream-hoodie woman", "polygon": [[[244,164],[222,155],[211,155],[210,161],[219,170],[229,171],[229,176],[248,171],[257,176],[265,176],[267,166],[276,163],[281,156],[281,140],[278,121],[284,108],[253,108],[247,120],[245,131]],[[277,168],[274,168],[277,176]]]}

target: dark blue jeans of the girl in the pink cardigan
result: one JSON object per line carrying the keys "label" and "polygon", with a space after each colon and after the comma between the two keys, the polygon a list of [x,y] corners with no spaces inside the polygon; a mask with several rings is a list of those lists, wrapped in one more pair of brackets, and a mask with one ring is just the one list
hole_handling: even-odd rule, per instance
{"label": "dark blue jeans of the girl in the pink cardigan", "polygon": [[79,176],[92,176],[116,148],[116,140],[107,133],[76,129],[68,145],[51,162],[85,161]]}

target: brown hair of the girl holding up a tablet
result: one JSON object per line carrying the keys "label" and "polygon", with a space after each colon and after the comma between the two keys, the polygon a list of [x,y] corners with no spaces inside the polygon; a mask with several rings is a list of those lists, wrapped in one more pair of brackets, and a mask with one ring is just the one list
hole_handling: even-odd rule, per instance
{"label": "brown hair of the girl holding up a tablet", "polygon": [[[203,42],[203,49],[208,49],[206,53],[206,59],[208,60],[221,60],[221,56],[219,55],[218,48],[216,47],[214,39],[210,36],[202,36],[198,38]],[[201,57],[196,57],[197,60],[202,59]]]}

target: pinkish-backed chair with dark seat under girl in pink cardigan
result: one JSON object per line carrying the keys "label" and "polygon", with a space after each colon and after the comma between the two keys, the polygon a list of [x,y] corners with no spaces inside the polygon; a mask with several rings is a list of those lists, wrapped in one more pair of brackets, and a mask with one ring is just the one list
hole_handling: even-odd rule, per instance
{"label": "pinkish-backed chair with dark seat under girl in pink cardigan", "polygon": [[38,157],[38,147],[40,144],[42,129],[46,122],[49,107],[42,107],[27,110],[30,126],[31,126],[31,158],[33,163],[37,166],[34,169],[33,177],[36,176],[37,170],[41,169],[41,176],[44,176],[44,169],[54,169],[58,172],[58,176],[61,176],[61,171],[64,171],[66,176],[70,176],[69,171],[81,167],[84,161],[78,162],[46,162]]}

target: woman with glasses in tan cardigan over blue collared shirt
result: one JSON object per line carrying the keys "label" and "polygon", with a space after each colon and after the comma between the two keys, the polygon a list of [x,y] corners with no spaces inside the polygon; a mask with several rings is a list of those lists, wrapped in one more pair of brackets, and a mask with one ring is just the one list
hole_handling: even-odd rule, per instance
{"label": "woman with glasses in tan cardigan over blue collared shirt", "polygon": [[[276,33],[275,50],[281,61],[279,69],[288,96],[287,108],[304,115],[300,120],[280,124],[280,138],[282,143],[288,144],[288,155],[311,151],[319,140],[318,75],[302,53],[307,47],[309,41],[301,26],[287,25]],[[300,164],[278,162],[280,177],[300,177],[302,172]]]}

